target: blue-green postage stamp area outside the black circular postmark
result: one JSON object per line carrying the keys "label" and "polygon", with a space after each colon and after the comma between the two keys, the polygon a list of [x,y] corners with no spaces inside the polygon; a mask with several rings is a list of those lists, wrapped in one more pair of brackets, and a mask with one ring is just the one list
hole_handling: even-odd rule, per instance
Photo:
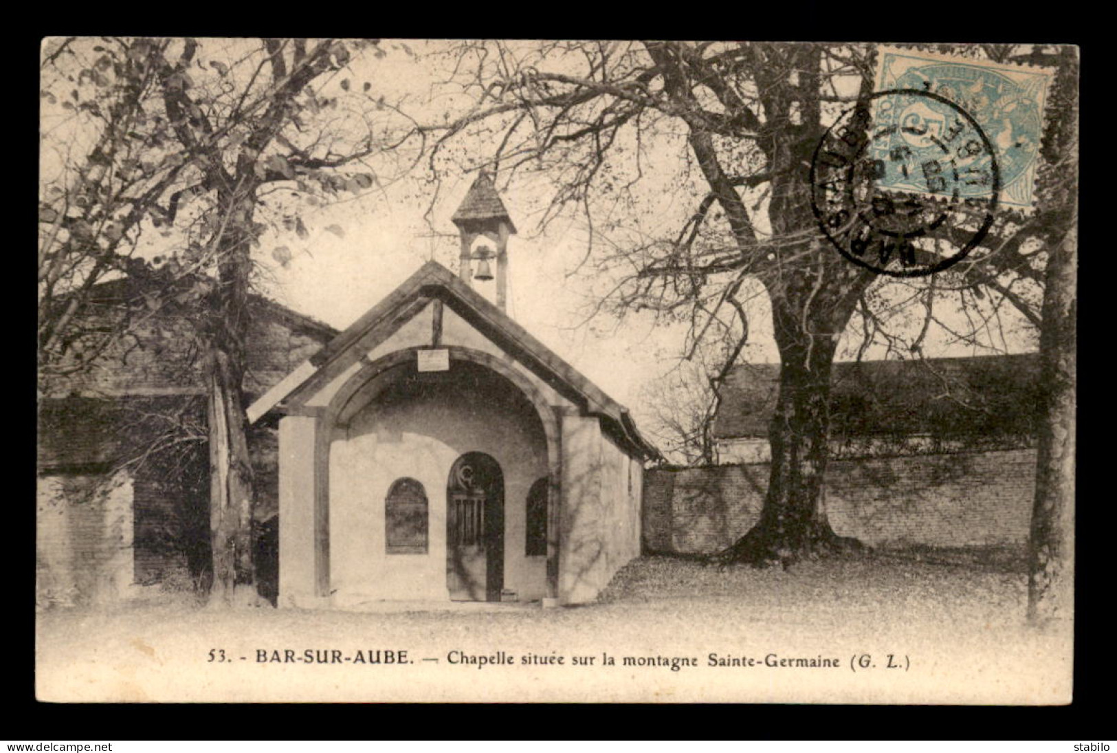
{"label": "blue-green postage stamp area outside the black circular postmark", "polygon": [[[1043,111],[1050,96],[1052,72],[1049,68],[997,64],[961,56],[922,50],[881,47],[877,57],[875,90],[917,89],[937,94],[968,113],[995,149],[1001,171],[999,203],[1004,208],[1030,211],[1035,198],[1035,169],[1043,133]],[[887,99],[877,101],[876,116]],[[903,113],[913,124],[926,121],[934,127],[947,114],[939,103],[923,102]],[[911,142],[911,135],[897,140]],[[878,143],[886,151],[894,143]],[[882,185],[922,191],[918,181],[889,173]],[[970,184],[962,196],[978,196],[982,185]]]}

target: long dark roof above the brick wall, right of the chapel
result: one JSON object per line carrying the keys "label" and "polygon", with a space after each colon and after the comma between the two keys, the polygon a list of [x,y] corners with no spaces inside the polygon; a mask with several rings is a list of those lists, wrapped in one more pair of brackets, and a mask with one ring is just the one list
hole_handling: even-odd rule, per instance
{"label": "long dark roof above the brick wall, right of the chapel", "polygon": [[[1032,435],[1040,404],[1039,356],[982,355],[833,364],[831,436]],[[722,388],[714,436],[764,438],[780,364],[735,366]]]}

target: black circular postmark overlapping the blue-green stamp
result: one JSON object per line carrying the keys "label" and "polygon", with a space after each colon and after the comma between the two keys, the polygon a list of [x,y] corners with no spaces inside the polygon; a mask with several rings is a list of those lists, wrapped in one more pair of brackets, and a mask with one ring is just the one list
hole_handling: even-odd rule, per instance
{"label": "black circular postmark overlapping the blue-green stamp", "polygon": [[889,89],[827,131],[811,161],[811,208],[842,256],[892,277],[957,264],[993,223],[996,152],[946,97]]}

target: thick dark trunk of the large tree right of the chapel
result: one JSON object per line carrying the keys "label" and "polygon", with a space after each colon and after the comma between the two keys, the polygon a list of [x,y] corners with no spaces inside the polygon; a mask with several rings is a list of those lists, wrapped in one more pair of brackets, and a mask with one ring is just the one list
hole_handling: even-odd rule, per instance
{"label": "thick dark trunk of the large tree right of the chapel", "polygon": [[[795,104],[804,123],[796,130],[773,133],[768,160],[772,165],[772,200],[768,217],[773,237],[796,238],[818,233],[811,210],[810,154],[822,137],[818,96],[821,48],[796,47],[782,65],[784,53],[761,46],[768,66],[756,70],[766,90],[765,109],[773,122],[791,120]],[[786,69],[799,72],[800,83],[789,83]],[[868,95],[861,83],[861,96]],[[830,373],[838,340],[844,331],[858,295],[872,280],[871,274],[848,264],[822,241],[793,241],[776,255],[776,270],[763,277],[772,301],[772,323],[780,350],[780,393],[768,425],[772,466],[760,522],[733,546],[719,553],[720,561],[756,565],[781,563],[786,568],[802,559],[848,551],[863,545],[838,536],[825,512],[825,471],[830,457]],[[784,271],[782,258],[801,258]]]}

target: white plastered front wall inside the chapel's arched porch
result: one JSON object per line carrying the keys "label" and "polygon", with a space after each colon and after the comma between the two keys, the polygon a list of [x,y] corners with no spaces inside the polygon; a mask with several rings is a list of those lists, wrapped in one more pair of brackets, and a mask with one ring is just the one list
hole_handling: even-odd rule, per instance
{"label": "white plastered front wall inside the chapel's arched porch", "polygon": [[[543,597],[546,557],[525,554],[525,512],[528,489],[547,474],[546,444],[538,418],[524,408],[523,401],[502,402],[497,394],[479,399],[465,385],[447,382],[423,400],[367,406],[350,421],[330,452],[335,606],[449,599],[447,480],[455,460],[471,451],[490,455],[504,474],[504,587],[522,601]],[[385,553],[384,499],[404,476],[420,482],[427,494],[426,554]]]}

